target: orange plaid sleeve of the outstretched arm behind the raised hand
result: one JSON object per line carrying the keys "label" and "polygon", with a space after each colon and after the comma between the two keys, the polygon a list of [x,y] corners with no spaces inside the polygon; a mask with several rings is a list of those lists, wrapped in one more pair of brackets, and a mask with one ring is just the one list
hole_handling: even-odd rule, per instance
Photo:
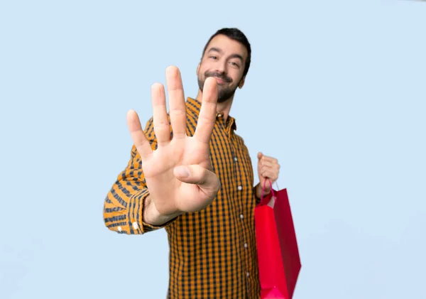
{"label": "orange plaid sleeve of the outstretched arm behind the raised hand", "polygon": [[[144,132],[151,148],[155,150],[157,140],[152,118],[147,121]],[[172,221],[153,226],[143,221],[143,201],[148,195],[141,156],[133,145],[128,165],[119,173],[104,200],[104,222],[107,228],[120,234],[144,234],[170,224]]]}

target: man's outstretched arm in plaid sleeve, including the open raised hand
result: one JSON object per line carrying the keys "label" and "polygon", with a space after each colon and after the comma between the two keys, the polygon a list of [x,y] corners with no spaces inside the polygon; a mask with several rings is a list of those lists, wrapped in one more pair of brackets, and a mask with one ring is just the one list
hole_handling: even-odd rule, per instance
{"label": "man's outstretched arm in plaid sleeve, including the open raised hand", "polygon": [[127,113],[134,145],[129,164],[105,199],[104,221],[111,230],[143,234],[165,227],[182,213],[203,210],[220,189],[209,160],[217,82],[205,80],[197,128],[194,136],[187,136],[185,97],[177,67],[166,69],[166,81],[170,114],[165,89],[159,83],[151,86],[153,117],[145,130],[134,110]]}

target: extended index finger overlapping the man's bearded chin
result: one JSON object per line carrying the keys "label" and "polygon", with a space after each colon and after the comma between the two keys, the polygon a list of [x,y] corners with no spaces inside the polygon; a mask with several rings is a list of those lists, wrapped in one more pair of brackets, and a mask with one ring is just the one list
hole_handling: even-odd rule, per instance
{"label": "extended index finger overlapping the man's bearded chin", "polygon": [[200,115],[194,134],[194,137],[203,143],[209,143],[212,137],[214,122],[216,121],[216,106],[217,82],[213,77],[208,77],[204,82]]}

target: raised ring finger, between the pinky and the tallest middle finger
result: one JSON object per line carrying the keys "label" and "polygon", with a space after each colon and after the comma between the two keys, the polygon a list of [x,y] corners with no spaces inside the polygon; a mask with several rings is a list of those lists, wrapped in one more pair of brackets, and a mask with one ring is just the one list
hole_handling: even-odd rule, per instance
{"label": "raised ring finger, between the pinky and the tallest middle finger", "polygon": [[153,84],[151,87],[151,97],[153,101],[153,124],[155,137],[157,138],[158,146],[163,146],[170,141],[170,123],[167,117],[163,85],[160,83]]}

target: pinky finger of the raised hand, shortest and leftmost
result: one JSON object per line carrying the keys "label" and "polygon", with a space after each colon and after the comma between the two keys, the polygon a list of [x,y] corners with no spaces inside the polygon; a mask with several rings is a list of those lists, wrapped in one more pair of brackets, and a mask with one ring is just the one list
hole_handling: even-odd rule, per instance
{"label": "pinky finger of the raised hand, shortest and leftmost", "polygon": [[139,116],[134,110],[129,110],[129,112],[127,112],[127,126],[129,127],[131,139],[139,155],[141,155],[142,160],[151,156],[153,150],[145,133],[142,131]]}

